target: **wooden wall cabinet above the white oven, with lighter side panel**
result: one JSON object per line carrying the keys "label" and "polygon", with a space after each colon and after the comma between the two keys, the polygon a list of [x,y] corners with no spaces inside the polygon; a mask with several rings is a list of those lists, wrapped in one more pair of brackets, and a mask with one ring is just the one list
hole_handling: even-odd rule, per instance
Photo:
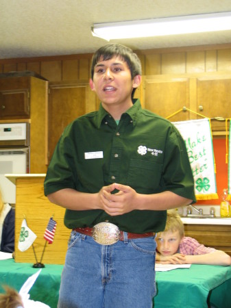
{"label": "wooden wall cabinet above the white oven, with lighter side panel", "polygon": [[30,123],[30,172],[47,172],[48,81],[34,72],[0,74],[0,123]]}

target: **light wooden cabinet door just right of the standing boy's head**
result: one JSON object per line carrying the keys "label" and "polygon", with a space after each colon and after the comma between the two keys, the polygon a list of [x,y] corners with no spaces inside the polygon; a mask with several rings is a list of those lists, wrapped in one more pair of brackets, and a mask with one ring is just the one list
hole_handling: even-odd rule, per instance
{"label": "light wooden cabinet door just right of the standing boy's head", "polygon": [[189,112],[183,112],[183,107],[189,108],[189,78],[146,77],[143,85],[145,109],[164,118],[170,116],[171,121],[189,120]]}

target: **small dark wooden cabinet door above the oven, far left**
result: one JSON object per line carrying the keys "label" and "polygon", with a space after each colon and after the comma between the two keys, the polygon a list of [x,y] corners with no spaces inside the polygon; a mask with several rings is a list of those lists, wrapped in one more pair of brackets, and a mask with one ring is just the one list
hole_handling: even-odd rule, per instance
{"label": "small dark wooden cabinet door above the oven, far left", "polygon": [[29,90],[1,90],[0,118],[29,118]]}

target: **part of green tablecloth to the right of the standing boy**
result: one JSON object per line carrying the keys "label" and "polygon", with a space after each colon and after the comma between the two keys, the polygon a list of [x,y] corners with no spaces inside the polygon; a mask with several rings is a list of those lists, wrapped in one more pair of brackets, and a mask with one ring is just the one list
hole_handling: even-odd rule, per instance
{"label": "part of green tablecloth to the right of the standing boy", "polygon": [[192,264],[189,269],[156,272],[156,284],[155,308],[231,307],[231,266]]}

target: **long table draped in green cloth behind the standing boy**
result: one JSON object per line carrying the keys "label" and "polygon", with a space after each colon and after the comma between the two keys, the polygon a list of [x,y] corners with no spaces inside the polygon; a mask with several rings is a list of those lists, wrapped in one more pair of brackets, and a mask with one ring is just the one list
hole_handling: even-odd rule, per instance
{"label": "long table draped in green cloth behind the standing boy", "polygon": [[[14,259],[0,261],[0,292],[2,284],[20,290],[29,276],[38,269],[33,264],[16,263]],[[62,265],[46,264],[30,290],[30,299],[56,308]],[[156,272],[158,293],[154,308],[217,308],[231,307],[231,266],[203,266]]]}

